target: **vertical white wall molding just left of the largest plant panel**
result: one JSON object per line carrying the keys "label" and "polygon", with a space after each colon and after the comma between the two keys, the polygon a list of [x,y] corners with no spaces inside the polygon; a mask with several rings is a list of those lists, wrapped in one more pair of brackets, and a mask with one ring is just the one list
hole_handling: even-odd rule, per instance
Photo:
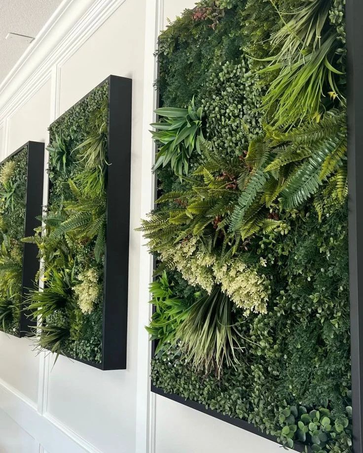
{"label": "vertical white wall molding just left of the largest plant panel", "polygon": [[[145,64],[144,64],[144,111],[143,111],[143,158],[141,169],[141,217],[153,208],[154,175],[150,168],[154,162],[155,145],[149,133],[149,125],[155,121],[157,94],[153,88],[157,77],[157,62],[154,52],[157,38],[164,24],[164,0],[147,0],[145,24]],[[151,196],[150,196],[151,194]],[[149,255],[146,241],[142,239],[139,283],[139,326],[147,325],[152,308],[146,301],[152,280],[153,259]],[[150,391],[151,344],[148,333],[139,327],[138,371],[137,371],[137,415],[136,415],[136,453],[155,453],[155,395]],[[146,404],[145,404],[146,401]]]}

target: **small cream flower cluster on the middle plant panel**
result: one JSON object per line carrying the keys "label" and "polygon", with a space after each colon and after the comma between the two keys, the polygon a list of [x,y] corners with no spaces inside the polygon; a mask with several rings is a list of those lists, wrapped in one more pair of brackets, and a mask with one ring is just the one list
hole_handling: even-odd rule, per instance
{"label": "small cream flower cluster on the middle plant panel", "polygon": [[92,313],[100,296],[100,285],[95,269],[88,269],[78,276],[81,282],[73,287],[73,291],[78,299],[78,306],[84,314]]}

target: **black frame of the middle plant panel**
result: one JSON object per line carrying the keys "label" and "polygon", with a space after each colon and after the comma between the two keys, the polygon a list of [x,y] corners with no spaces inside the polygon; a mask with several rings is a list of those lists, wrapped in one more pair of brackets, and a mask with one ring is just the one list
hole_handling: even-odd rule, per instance
{"label": "black frame of the middle plant panel", "polygon": [[[107,158],[109,165],[107,168],[102,361],[94,363],[73,356],[70,358],[101,370],[121,370],[126,369],[127,361],[132,80],[110,75],[69,110],[105,83],[109,84]],[[63,115],[51,126],[59,123]]]}

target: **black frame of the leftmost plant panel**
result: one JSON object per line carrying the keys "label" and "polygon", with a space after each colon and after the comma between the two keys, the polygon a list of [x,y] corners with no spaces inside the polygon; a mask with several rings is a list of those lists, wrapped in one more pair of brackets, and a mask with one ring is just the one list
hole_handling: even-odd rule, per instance
{"label": "black frame of the leftmost plant panel", "polygon": [[[44,143],[29,141],[25,145],[7,156],[2,163],[27,148],[27,189],[25,199],[24,236],[32,236],[34,228],[40,226],[36,219],[41,215],[43,204],[43,178],[44,178]],[[29,195],[29,196],[28,196]],[[36,321],[29,317],[26,299],[29,289],[34,285],[36,273],[39,270],[38,249],[35,244],[24,244],[22,268],[22,302],[20,312],[20,328],[15,336],[25,337],[33,333]]]}

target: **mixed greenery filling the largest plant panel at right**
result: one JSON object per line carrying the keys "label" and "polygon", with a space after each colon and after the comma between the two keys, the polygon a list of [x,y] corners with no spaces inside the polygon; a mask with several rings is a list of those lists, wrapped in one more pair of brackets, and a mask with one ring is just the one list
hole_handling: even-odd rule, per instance
{"label": "mixed greenery filling the largest plant panel at right", "polygon": [[345,0],[203,0],[161,33],[152,389],[352,452]]}

